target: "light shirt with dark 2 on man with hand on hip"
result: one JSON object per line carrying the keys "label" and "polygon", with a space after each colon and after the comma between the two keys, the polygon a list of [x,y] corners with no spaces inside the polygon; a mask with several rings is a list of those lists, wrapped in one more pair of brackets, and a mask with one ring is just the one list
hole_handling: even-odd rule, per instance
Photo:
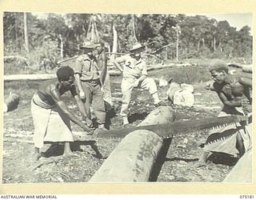
{"label": "light shirt with dark 2 on man with hand on hip", "polygon": [[138,61],[130,55],[124,55],[122,58],[125,60],[122,72],[124,78],[139,78],[142,75],[147,75],[146,62],[142,58]]}

